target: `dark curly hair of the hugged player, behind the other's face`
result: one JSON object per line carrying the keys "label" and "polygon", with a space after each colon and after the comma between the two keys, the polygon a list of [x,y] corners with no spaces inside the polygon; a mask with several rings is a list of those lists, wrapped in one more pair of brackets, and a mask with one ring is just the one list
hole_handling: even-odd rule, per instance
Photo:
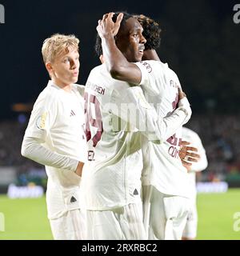
{"label": "dark curly hair of the hugged player, behind the other's face", "polygon": [[146,38],[145,50],[156,50],[160,46],[161,38],[158,22],[155,22],[152,18],[146,17],[143,14],[135,15],[138,18],[138,22],[142,25],[142,35]]}

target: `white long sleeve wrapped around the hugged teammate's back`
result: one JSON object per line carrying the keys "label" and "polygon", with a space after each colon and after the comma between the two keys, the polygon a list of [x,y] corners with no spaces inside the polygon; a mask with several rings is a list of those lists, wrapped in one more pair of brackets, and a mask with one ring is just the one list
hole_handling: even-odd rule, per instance
{"label": "white long sleeve wrapped around the hugged teammate's back", "polygon": [[[159,117],[154,107],[146,101],[139,86],[127,89],[124,98],[115,97],[114,103],[117,104],[117,107],[112,108],[117,110],[114,114],[137,128],[150,141],[160,141],[160,143],[166,141],[190,118],[184,107],[174,110],[173,114],[166,118]],[[187,104],[189,105],[189,102],[186,102]]]}

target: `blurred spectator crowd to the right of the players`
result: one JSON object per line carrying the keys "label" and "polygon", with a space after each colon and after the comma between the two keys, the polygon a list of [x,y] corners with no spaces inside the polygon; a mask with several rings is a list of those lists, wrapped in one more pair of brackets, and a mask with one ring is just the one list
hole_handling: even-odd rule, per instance
{"label": "blurred spectator crowd to the right of the players", "polygon": [[223,114],[194,115],[187,126],[198,133],[206,149],[209,165],[201,175],[202,180],[226,180],[227,182],[235,182],[239,186],[239,116]]}

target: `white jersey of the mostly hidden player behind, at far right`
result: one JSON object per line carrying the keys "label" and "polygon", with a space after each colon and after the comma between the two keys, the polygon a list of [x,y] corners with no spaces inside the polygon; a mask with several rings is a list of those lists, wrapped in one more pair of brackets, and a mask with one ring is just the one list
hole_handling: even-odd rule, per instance
{"label": "white jersey of the mostly hidden player behind, at far right", "polygon": [[201,138],[199,138],[198,134],[193,130],[190,130],[186,127],[182,127],[182,139],[186,142],[190,142],[190,146],[194,146],[198,149],[198,154],[200,155],[200,159],[198,162],[191,162],[190,172],[188,176],[188,186],[190,187],[190,198],[195,201],[196,198],[196,172],[202,171],[206,169],[208,164],[206,158],[206,151],[202,146]]}

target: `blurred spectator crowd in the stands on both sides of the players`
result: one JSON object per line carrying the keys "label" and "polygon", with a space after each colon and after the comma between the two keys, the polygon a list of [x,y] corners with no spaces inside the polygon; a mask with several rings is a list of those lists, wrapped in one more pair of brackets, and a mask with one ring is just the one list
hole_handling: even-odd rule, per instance
{"label": "blurred spectator crowd in the stands on both sides of the players", "polygon": [[[27,118],[0,122],[0,168],[14,166],[18,183],[25,185],[30,177],[45,177],[44,167],[23,158],[20,151]],[[236,115],[194,115],[187,127],[197,132],[206,149],[209,166],[201,181],[238,181],[240,184],[240,118]],[[39,184],[39,181],[34,181]],[[46,182],[46,181],[44,181]],[[40,182],[41,183],[41,182]]]}

